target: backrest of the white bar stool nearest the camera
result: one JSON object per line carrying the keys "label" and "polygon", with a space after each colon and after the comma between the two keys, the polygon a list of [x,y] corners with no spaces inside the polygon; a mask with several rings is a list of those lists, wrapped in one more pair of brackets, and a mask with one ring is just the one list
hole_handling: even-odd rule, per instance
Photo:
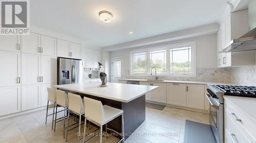
{"label": "backrest of the white bar stool nearest the camera", "polygon": [[83,97],[86,118],[89,118],[102,125],[104,110],[100,101]]}

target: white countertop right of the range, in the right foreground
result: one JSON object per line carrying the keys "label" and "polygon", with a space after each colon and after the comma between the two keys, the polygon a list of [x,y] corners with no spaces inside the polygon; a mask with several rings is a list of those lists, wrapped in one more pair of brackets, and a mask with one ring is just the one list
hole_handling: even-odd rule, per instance
{"label": "white countertop right of the range, in the right foreground", "polygon": [[256,98],[238,97],[238,96],[224,96],[225,100],[232,102],[235,106],[241,109],[248,117],[256,122]]}

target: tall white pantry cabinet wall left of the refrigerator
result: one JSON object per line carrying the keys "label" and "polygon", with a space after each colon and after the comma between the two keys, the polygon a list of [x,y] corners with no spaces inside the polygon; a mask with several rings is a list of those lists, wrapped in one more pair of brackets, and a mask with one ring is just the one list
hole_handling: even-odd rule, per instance
{"label": "tall white pantry cabinet wall left of the refrigerator", "polygon": [[0,116],[45,106],[57,83],[56,38],[30,33],[0,43]]}

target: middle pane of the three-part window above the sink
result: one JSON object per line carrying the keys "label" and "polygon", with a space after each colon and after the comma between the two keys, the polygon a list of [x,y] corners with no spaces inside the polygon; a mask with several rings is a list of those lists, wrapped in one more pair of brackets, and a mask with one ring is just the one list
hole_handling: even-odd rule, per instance
{"label": "middle pane of the three-part window above the sink", "polygon": [[166,73],[166,50],[150,51],[150,69],[156,68],[157,73]]}

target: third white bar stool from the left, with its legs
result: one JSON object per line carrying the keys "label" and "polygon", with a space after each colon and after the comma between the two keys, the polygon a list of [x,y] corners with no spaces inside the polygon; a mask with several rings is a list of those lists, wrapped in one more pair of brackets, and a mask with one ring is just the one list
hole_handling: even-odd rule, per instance
{"label": "third white bar stool from the left, with its legs", "polygon": [[[75,115],[79,116],[78,140],[79,140],[79,137],[80,137],[80,130],[81,130],[81,116],[84,116],[84,103],[82,101],[81,96],[73,94],[73,93],[69,93],[68,97],[69,97],[69,109],[68,109],[69,113],[68,113],[68,126],[67,126],[66,142],[68,141],[70,111],[72,111]],[[84,123],[86,123],[86,122],[84,122]],[[74,129],[74,128],[72,128],[72,129]],[[72,129],[70,129],[70,130],[72,130]]]}

